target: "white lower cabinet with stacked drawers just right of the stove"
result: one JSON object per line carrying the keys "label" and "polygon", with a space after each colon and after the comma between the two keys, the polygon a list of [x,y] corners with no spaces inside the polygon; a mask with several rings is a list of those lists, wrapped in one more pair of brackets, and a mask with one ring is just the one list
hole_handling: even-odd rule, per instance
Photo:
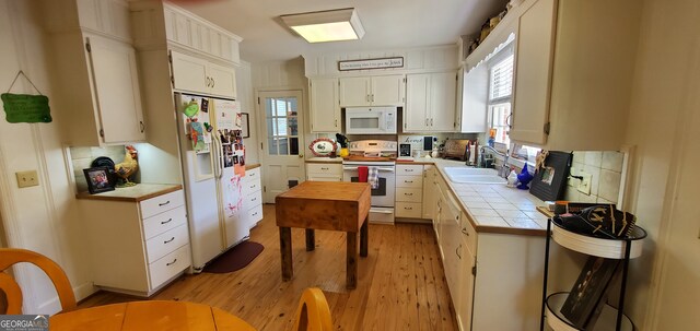
{"label": "white lower cabinet with stacked drawers just right of the stove", "polygon": [[396,165],[396,217],[421,218],[423,206],[423,166]]}

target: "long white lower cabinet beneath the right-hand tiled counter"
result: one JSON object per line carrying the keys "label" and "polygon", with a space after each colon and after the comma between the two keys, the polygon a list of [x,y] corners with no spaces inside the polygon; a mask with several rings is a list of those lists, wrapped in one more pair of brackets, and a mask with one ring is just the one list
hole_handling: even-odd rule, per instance
{"label": "long white lower cabinet beneath the right-hand tiled counter", "polygon": [[[438,197],[433,226],[459,330],[538,330],[545,237],[477,233],[440,174],[433,187]],[[553,249],[552,259],[572,260],[560,253]],[[578,269],[567,263],[563,270],[552,276],[556,288],[565,284],[560,279],[571,277],[568,270]]]}

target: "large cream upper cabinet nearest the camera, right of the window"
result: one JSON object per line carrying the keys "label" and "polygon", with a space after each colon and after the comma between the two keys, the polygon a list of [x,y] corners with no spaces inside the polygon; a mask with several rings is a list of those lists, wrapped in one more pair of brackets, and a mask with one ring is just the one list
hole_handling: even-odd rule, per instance
{"label": "large cream upper cabinet nearest the camera, right of the window", "polygon": [[533,0],[521,7],[514,11],[511,139],[548,150],[619,150],[639,40],[638,3]]}

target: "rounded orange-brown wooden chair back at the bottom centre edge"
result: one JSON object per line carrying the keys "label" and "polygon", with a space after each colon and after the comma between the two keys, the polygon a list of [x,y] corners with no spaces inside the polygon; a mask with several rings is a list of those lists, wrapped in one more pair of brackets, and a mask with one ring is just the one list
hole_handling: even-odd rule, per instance
{"label": "rounded orange-brown wooden chair back at the bottom centre edge", "polygon": [[317,287],[304,289],[296,308],[294,331],[329,331],[332,330],[330,309],[323,291]]}

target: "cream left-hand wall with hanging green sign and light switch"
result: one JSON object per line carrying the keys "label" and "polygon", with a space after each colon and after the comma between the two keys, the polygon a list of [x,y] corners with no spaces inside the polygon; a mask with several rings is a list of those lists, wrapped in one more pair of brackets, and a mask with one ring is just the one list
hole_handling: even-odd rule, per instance
{"label": "cream left-hand wall with hanging green sign and light switch", "polygon": [[[49,97],[51,105],[50,52],[40,27],[36,0],[0,0],[0,85],[4,91],[19,70]],[[13,93],[34,94],[24,81]],[[60,116],[63,111],[63,115]],[[0,120],[0,217],[9,247],[38,251],[58,262],[68,274],[78,299],[93,293],[81,234],[79,212],[69,185],[59,122],[69,118],[51,108],[51,123],[9,123]],[[20,189],[15,172],[36,169],[39,186]],[[59,304],[54,285],[43,272],[23,265],[16,269],[24,291],[25,314],[54,314]]]}

